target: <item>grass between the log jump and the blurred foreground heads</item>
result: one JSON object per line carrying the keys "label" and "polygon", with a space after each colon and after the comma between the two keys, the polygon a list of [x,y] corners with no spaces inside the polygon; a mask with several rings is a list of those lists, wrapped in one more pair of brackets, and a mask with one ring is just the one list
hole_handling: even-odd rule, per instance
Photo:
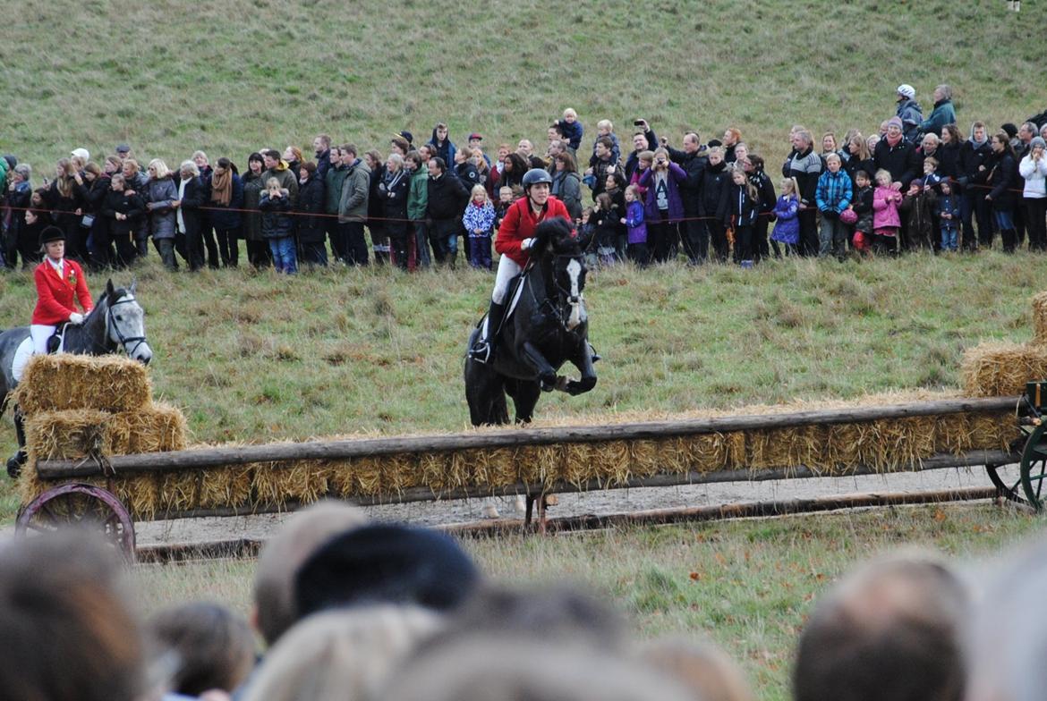
{"label": "grass between the log jump and the blurred foreground heads", "polygon": [[[966,566],[1042,527],[1041,518],[995,506],[920,506],[465,546],[497,581],[567,580],[610,602],[638,638],[707,635],[742,664],[758,698],[779,701],[789,698],[793,649],[812,603],[855,564],[914,545]],[[209,598],[246,613],[252,571],[235,560],[140,566],[136,578],[146,610]]]}

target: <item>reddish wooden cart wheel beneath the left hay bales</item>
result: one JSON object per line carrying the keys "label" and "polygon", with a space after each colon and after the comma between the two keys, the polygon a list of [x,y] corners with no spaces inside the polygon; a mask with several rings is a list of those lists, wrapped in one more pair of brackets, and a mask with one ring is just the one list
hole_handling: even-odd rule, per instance
{"label": "reddish wooden cart wheel beneath the left hay bales", "polygon": [[134,559],[134,522],[120,500],[101,487],[70,483],[47,490],[15,522],[15,534],[24,537],[61,528],[93,529],[125,558]]}

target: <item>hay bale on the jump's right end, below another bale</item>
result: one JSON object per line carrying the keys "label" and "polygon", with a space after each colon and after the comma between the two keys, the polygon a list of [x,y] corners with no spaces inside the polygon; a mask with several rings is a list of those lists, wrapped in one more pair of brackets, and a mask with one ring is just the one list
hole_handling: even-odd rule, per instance
{"label": "hay bale on the jump's right end, below another bale", "polygon": [[960,366],[970,397],[1008,397],[1025,383],[1047,379],[1047,346],[988,342],[963,352]]}

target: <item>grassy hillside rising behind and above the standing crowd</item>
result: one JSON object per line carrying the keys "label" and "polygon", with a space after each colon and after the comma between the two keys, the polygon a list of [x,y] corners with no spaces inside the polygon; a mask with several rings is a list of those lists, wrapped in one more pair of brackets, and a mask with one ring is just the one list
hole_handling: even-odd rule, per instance
{"label": "grassy hillside rising behind and above the standing crowd", "polygon": [[998,0],[781,0],[557,5],[363,0],[162,0],[23,4],[4,19],[0,150],[38,168],[86,145],[181,160],[194,149],[243,162],[260,146],[336,139],[387,149],[446,120],[455,140],[527,136],[575,107],[587,129],[637,116],[682,130],[741,128],[784,155],[794,123],[865,133],[910,83],[930,112],[941,82],[962,125],[998,127],[1045,106],[1022,81],[1030,14]]}

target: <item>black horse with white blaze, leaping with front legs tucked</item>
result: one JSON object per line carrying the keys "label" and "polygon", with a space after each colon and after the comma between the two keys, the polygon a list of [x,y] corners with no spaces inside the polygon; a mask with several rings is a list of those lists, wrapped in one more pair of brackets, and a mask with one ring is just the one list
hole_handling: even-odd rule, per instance
{"label": "black horse with white blaze, leaping with front legs tucked", "polygon": [[[503,323],[493,357],[487,363],[466,357],[465,394],[473,426],[508,424],[507,393],[516,407],[516,421],[526,423],[542,391],[581,394],[596,386],[582,298],[586,242],[572,233],[571,224],[562,219],[538,225],[531,263],[521,273],[520,287],[511,289],[514,307]],[[467,347],[474,345],[480,326]],[[581,379],[557,378],[557,370],[569,361],[581,371]]]}

